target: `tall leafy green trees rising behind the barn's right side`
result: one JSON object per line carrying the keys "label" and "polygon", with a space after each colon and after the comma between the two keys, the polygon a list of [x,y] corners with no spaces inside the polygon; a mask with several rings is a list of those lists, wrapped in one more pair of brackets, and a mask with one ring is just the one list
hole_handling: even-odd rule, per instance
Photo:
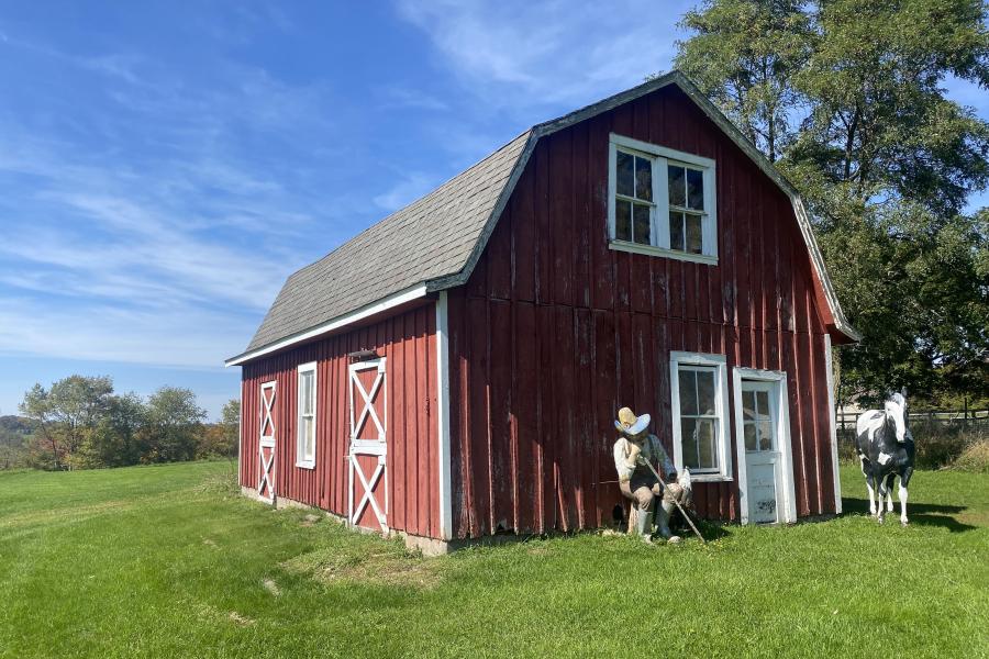
{"label": "tall leafy green trees rising behind the barn's right side", "polygon": [[989,86],[985,5],[705,0],[682,24],[677,66],[780,156],[812,211],[864,335],[842,350],[840,398],[989,395],[987,217],[963,214],[989,180],[989,125],[944,89]]}

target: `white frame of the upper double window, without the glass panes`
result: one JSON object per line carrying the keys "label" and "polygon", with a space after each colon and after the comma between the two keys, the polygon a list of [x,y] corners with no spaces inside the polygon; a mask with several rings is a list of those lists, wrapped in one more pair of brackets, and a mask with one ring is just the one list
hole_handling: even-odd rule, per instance
{"label": "white frame of the upper double window, without the glass panes", "polygon": [[[653,203],[649,213],[649,237],[652,244],[643,245],[631,241],[619,241],[615,236],[614,202],[618,194],[616,165],[618,150],[648,158],[653,163]],[[703,254],[691,254],[669,247],[669,190],[667,187],[667,165],[681,165],[700,169],[704,185],[704,221],[701,225]],[[716,171],[714,160],[693,154],[657,146],[624,135],[610,134],[608,149],[608,246],[619,252],[663,256],[678,260],[707,265],[718,264],[718,208]]]}

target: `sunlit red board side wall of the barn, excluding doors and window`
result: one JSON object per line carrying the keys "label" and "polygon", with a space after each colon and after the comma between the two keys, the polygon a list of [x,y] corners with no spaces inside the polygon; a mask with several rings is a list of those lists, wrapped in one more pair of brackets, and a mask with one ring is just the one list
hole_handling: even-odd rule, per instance
{"label": "sunlit red board side wall of the barn, excluding doors and window", "polygon": [[[259,391],[263,382],[274,379],[278,382],[277,495],[346,516],[347,354],[374,349],[387,358],[388,525],[414,535],[438,537],[435,325],[436,312],[431,303],[246,364],[242,375],[241,484],[258,484]],[[315,469],[296,467],[296,369],[309,361],[319,362]],[[356,496],[359,495],[358,485]]]}

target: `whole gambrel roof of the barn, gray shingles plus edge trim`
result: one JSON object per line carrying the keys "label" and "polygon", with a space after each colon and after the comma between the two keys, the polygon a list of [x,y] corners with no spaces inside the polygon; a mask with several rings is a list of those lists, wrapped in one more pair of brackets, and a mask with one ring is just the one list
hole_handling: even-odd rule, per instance
{"label": "whole gambrel roof of the barn, gray shingles plus edge trim", "polygon": [[686,76],[674,70],[533,126],[433,192],[295,272],[246,350],[229,359],[227,366],[319,336],[397,303],[465,283],[541,137],[667,85],[676,85],[690,97],[790,198],[834,326],[849,339],[859,340],[838,304],[800,196]]}

